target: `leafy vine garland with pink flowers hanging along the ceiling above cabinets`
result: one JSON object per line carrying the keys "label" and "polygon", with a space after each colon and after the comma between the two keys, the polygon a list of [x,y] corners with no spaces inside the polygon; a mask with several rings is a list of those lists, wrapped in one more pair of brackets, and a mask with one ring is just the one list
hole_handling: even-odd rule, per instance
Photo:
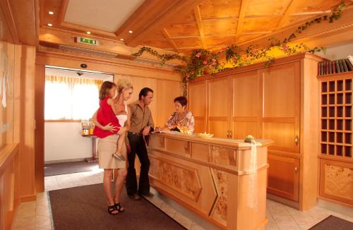
{"label": "leafy vine garland with pink flowers hanging along the ceiling above cabinets", "polygon": [[[141,47],[140,50],[132,54],[133,56],[140,56],[144,52],[148,52],[160,59],[160,65],[162,66],[166,61],[172,59],[179,59],[184,61],[186,65],[183,68],[177,69],[179,73],[183,76],[183,85],[186,82],[193,80],[198,76],[217,73],[224,71],[228,68],[236,68],[240,66],[247,66],[249,64],[265,61],[265,66],[270,66],[270,63],[275,61],[275,57],[270,55],[270,52],[276,50],[280,51],[285,55],[294,55],[300,52],[325,52],[324,47],[313,47],[310,48],[306,44],[295,44],[291,45],[292,42],[298,34],[309,28],[311,25],[316,23],[321,23],[322,21],[328,21],[328,23],[333,23],[342,16],[342,11],[345,9],[345,4],[342,3],[335,10],[332,11],[330,16],[321,16],[315,18],[305,24],[299,26],[297,30],[292,32],[291,35],[286,37],[284,40],[280,41],[275,38],[270,38],[268,47],[259,48],[250,45],[245,50],[237,45],[231,45],[220,52],[211,53],[206,49],[196,49],[190,56],[181,56],[179,54],[159,54],[157,51],[150,47]],[[220,61],[220,56],[225,56],[225,61]],[[186,88],[184,89],[184,94],[186,93]]]}

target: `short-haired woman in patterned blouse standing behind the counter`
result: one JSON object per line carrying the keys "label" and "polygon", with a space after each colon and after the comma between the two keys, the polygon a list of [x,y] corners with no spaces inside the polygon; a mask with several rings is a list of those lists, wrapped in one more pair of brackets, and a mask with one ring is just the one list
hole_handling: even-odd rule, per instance
{"label": "short-haired woman in patterned blouse standing behind the counter", "polygon": [[176,97],[174,99],[175,112],[170,115],[162,131],[179,131],[181,133],[193,134],[195,119],[191,111],[186,110],[188,100],[186,97]]}

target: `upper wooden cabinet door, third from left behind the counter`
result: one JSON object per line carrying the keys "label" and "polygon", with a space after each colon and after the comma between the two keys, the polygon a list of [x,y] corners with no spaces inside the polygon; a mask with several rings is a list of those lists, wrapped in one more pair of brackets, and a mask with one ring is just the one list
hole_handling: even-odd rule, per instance
{"label": "upper wooden cabinet door, third from left behind the counter", "polygon": [[261,138],[262,89],[258,71],[232,76],[232,138]]}

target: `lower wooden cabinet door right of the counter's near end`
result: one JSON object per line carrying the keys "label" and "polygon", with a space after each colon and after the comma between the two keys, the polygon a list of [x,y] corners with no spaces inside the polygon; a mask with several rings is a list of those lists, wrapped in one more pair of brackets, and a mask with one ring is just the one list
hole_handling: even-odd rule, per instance
{"label": "lower wooden cabinet door right of the counter's near end", "polygon": [[299,159],[268,155],[268,193],[299,201]]}

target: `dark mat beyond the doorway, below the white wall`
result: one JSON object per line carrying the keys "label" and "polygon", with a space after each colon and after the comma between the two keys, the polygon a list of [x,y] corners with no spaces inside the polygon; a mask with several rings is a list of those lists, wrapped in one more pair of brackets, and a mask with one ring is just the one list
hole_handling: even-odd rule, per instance
{"label": "dark mat beyond the doorway, below the white wall", "polygon": [[63,162],[54,164],[44,164],[44,176],[56,176],[61,174],[73,174],[82,171],[93,171],[99,169],[98,163],[81,162]]}

